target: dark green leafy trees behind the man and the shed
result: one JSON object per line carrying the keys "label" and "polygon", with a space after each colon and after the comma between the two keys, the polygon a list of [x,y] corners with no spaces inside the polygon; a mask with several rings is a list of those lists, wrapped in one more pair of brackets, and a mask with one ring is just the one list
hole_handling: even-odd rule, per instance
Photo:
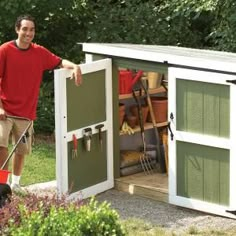
{"label": "dark green leafy trees behind the man and the shed", "polygon": [[[83,60],[78,42],[175,45],[236,52],[233,0],[1,0],[0,44],[16,37],[15,19],[36,18],[35,42]],[[53,73],[45,73],[37,132],[53,132]]]}

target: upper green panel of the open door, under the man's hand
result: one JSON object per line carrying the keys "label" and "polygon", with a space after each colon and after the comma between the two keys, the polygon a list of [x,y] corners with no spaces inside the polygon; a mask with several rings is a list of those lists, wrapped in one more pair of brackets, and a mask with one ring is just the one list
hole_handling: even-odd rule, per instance
{"label": "upper green panel of the open door, under the man's hand", "polygon": [[83,75],[83,84],[67,79],[68,132],[106,120],[105,70]]}

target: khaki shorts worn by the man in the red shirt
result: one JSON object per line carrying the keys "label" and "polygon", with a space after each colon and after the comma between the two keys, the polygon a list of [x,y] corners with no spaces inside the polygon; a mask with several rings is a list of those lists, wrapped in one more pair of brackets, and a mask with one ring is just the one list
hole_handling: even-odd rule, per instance
{"label": "khaki shorts worn by the man in the red shirt", "polygon": [[[7,118],[0,120],[0,146],[8,147],[9,139],[12,136],[12,143],[15,144],[23,134],[30,121]],[[26,132],[25,137],[17,145],[15,152],[19,155],[27,155],[31,153],[33,137],[33,123]]]}

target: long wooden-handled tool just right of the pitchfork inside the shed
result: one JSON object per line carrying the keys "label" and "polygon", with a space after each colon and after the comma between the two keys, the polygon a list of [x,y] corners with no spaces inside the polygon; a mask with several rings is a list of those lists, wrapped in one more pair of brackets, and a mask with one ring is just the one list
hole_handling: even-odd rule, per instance
{"label": "long wooden-handled tool just right of the pitchfork inside the shed", "polygon": [[159,136],[159,133],[158,133],[158,130],[157,130],[157,126],[156,126],[156,119],[155,119],[155,115],[154,115],[154,112],[153,112],[151,97],[150,97],[150,94],[148,92],[148,89],[146,89],[146,87],[144,86],[142,81],[141,81],[141,86],[142,86],[142,88],[143,88],[143,90],[146,94],[146,97],[147,97],[147,103],[148,103],[149,112],[150,112],[150,116],[151,116],[151,120],[152,120],[152,125],[153,125],[153,129],[154,129],[155,136],[156,136],[157,161],[159,163],[159,167],[161,167],[161,165],[160,165],[160,163],[161,163],[161,142],[160,142],[160,136]]}

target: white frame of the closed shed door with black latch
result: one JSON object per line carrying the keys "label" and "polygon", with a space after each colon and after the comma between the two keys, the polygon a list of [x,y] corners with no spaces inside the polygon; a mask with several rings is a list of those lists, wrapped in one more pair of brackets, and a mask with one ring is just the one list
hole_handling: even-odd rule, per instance
{"label": "white frame of the closed shed door with black latch", "polygon": [[[230,137],[217,138],[210,135],[181,132],[176,130],[176,80],[186,79],[207,83],[224,84],[230,86]],[[227,210],[236,210],[236,85],[227,83],[226,80],[235,80],[235,75],[206,72],[192,69],[170,67],[168,70],[168,117],[173,113],[174,119],[170,126],[174,134],[173,141],[169,137],[169,202],[175,205],[219,214],[231,218],[234,215],[226,213]],[[219,147],[230,150],[230,196],[229,207],[219,206],[204,201],[177,196],[177,170],[176,170],[176,141],[185,141]]]}

